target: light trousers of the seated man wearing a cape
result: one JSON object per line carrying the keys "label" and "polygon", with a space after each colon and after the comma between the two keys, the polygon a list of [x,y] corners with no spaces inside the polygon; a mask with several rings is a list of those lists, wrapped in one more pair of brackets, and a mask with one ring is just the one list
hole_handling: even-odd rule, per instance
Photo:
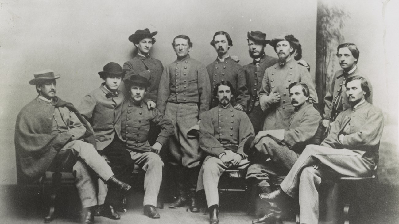
{"label": "light trousers of the seated man wearing a cape", "polygon": [[69,157],[69,159],[77,160],[72,167],[72,171],[75,176],[75,185],[83,208],[99,204],[96,195],[97,183],[95,178],[91,175],[91,170],[97,173],[103,181],[102,185],[104,185],[104,183],[114,175],[111,167],[109,167],[104,158],[97,153],[97,150],[92,144],[84,141],[74,140],[68,142],[57,155],[55,155],[54,159],[67,159],[68,154],[73,155],[73,158]]}

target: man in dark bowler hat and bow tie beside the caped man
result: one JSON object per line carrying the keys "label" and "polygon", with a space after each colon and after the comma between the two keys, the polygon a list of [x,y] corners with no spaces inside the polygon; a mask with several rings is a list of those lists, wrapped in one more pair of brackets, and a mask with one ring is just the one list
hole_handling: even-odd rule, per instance
{"label": "man in dark bowler hat and bow tie beside the caped man", "polygon": [[[105,155],[110,161],[115,176],[126,182],[133,171],[133,162],[130,159],[123,160],[129,153],[125,150],[125,143],[120,135],[120,112],[124,94],[118,88],[124,72],[118,63],[110,62],[98,74],[104,82],[99,88],[89,92],[77,108],[93,127],[100,155]],[[123,195],[112,189],[107,193],[106,185],[99,183],[98,200],[100,206],[96,215],[120,219],[114,208],[121,206]]]}

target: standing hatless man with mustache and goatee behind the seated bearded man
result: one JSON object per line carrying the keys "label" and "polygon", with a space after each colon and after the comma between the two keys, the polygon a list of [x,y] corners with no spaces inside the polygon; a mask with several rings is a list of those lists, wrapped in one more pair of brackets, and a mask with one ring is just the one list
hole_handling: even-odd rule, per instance
{"label": "standing hatless man with mustache and goatee behind the seated bearded man", "polygon": [[[215,48],[217,53],[216,60],[206,67],[211,82],[211,91],[213,91],[216,83],[220,81],[229,81],[236,90],[231,104],[235,109],[245,111],[249,100],[245,71],[243,67],[236,63],[229,55],[229,49],[233,46],[233,41],[229,33],[217,31],[213,35],[211,45]],[[217,105],[217,99],[213,98],[211,108]]]}

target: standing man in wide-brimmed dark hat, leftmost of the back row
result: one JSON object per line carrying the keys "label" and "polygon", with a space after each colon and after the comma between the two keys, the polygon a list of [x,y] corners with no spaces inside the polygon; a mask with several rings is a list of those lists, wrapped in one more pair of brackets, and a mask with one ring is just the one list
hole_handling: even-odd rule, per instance
{"label": "standing man in wide-brimmed dark hat, leftmost of the back row", "polygon": [[155,43],[154,36],[157,33],[158,31],[151,33],[149,29],[138,29],[130,35],[129,41],[134,44],[138,52],[136,57],[123,64],[123,71],[126,75],[125,79],[129,79],[131,75],[140,75],[150,82],[150,86],[148,86],[143,99],[147,103],[148,108],[155,107],[159,81],[164,71],[161,61],[150,57],[150,50]]}

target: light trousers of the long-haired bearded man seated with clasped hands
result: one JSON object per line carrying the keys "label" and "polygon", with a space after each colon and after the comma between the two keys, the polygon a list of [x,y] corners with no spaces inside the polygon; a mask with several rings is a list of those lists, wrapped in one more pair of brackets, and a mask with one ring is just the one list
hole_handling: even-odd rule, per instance
{"label": "light trousers of the long-haired bearded man seated with clasped hands", "polygon": [[[226,156],[234,157],[236,153],[231,150],[225,150]],[[245,169],[249,165],[248,159],[242,159],[236,167]],[[219,204],[219,192],[217,191],[217,185],[219,184],[219,178],[223,172],[228,169],[223,162],[217,157],[209,157],[205,159],[202,164],[201,170],[198,175],[197,191],[204,189],[206,202],[209,206]]]}

